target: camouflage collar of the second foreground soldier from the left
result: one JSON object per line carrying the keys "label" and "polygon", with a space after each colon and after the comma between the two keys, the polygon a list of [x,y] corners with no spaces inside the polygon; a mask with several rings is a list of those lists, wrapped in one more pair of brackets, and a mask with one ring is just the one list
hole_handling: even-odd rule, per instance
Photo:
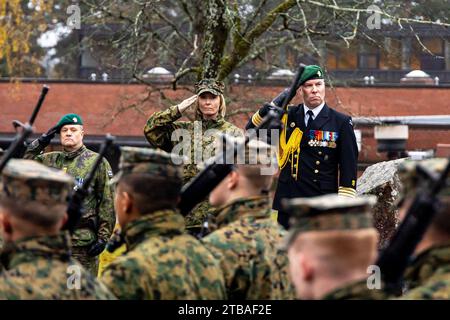
{"label": "camouflage collar of the second foreground soldier from the left", "polygon": [[173,236],[184,233],[184,218],[172,209],[159,210],[131,221],[124,228],[128,250],[142,241],[159,235]]}

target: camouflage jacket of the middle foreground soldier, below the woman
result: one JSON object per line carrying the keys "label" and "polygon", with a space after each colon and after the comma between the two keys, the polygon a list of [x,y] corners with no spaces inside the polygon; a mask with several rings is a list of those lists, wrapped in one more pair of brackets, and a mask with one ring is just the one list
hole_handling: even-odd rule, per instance
{"label": "camouflage jacket of the middle foreground soldier, below the woman", "polygon": [[228,299],[294,299],[285,231],[270,218],[269,198],[234,201],[218,210],[218,229],[202,241],[220,260]]}

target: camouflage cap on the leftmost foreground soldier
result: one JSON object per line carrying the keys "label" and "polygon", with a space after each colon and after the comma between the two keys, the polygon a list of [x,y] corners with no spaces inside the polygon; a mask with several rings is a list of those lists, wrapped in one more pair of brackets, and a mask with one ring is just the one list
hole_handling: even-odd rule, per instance
{"label": "camouflage cap on the leftmost foreground soldier", "polygon": [[11,159],[2,172],[0,197],[46,205],[66,204],[74,185],[74,179],[61,170],[33,160]]}

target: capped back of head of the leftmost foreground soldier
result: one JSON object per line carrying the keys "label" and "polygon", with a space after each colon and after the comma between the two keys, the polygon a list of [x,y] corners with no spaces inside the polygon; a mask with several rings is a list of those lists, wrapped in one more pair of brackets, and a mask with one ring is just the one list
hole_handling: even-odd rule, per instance
{"label": "capped back of head of the leftmost foreground soldier", "polygon": [[67,211],[74,180],[32,160],[12,159],[2,172],[0,206],[15,219],[51,228]]}

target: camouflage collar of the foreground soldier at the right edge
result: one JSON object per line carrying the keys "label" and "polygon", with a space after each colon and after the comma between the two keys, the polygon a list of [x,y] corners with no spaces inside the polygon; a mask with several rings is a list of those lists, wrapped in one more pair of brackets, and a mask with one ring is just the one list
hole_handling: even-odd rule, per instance
{"label": "camouflage collar of the foreground soldier at the right edge", "polygon": [[431,247],[415,257],[405,271],[405,280],[408,287],[415,288],[441,272],[450,272],[450,243]]}

